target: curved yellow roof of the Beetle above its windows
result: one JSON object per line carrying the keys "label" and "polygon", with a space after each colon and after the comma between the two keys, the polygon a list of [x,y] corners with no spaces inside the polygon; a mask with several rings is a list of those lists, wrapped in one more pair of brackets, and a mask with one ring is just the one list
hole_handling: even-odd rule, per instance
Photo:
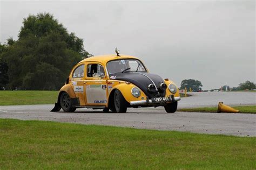
{"label": "curved yellow roof of the Beetle above its windows", "polygon": [[118,59],[138,59],[138,58],[135,57],[135,56],[123,55],[123,54],[120,54],[120,56],[117,56],[116,54],[97,55],[97,56],[91,56],[89,58],[86,58],[86,59],[80,61],[79,63],[82,63],[82,62],[101,62],[104,65],[106,65],[106,63],[108,61],[118,60]]}

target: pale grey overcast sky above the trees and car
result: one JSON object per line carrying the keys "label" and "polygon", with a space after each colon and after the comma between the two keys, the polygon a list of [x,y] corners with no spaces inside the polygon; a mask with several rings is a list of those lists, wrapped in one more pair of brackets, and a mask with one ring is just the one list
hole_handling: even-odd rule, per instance
{"label": "pale grey overcast sky above the trees and car", "polygon": [[50,12],[93,55],[138,56],[151,73],[203,89],[256,79],[255,1],[1,1],[0,41],[29,14]]}

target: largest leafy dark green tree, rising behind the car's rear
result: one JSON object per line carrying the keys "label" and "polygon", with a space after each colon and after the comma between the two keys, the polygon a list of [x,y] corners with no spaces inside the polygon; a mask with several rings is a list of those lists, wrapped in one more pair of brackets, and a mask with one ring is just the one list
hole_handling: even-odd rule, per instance
{"label": "largest leafy dark green tree, rising behind the car's rear", "polygon": [[83,39],[68,33],[49,13],[24,18],[18,40],[8,40],[2,58],[8,63],[9,87],[56,90],[65,82],[70,69],[91,56]]}

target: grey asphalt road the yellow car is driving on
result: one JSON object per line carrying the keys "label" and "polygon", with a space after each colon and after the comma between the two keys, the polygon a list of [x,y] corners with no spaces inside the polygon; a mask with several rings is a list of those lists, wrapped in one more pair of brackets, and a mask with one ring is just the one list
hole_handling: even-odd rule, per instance
{"label": "grey asphalt road the yellow car is driving on", "polygon": [[[256,104],[256,93],[194,93],[182,98],[180,108],[217,105]],[[176,130],[234,136],[256,136],[255,114],[213,114],[176,112],[166,114],[163,108],[128,109],[126,114],[103,113],[101,110],[77,109],[75,113],[50,112],[53,104],[0,107],[0,118],[43,120],[80,124],[124,126],[138,129]]]}

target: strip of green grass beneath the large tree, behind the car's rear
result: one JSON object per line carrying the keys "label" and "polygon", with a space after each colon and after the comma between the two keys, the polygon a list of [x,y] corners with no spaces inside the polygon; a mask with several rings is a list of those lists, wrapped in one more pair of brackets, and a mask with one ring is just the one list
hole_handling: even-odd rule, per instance
{"label": "strip of green grass beneath the large tree, behind the car's rear", "polygon": [[0,91],[0,105],[53,104],[58,91]]}

